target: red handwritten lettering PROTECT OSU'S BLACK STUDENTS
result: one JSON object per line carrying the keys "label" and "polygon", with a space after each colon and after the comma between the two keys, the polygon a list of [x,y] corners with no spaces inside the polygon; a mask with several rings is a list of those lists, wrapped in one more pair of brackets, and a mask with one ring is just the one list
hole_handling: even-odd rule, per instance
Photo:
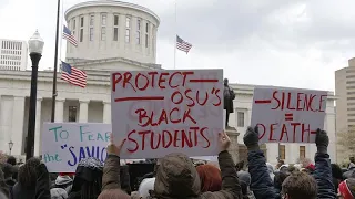
{"label": "red handwritten lettering PROTECT OSU'S BLACK STUDENTS", "polygon": [[[206,127],[210,124],[197,122],[200,108],[205,111],[212,107],[212,113],[206,112],[206,116],[220,115],[215,108],[223,104],[220,80],[211,76],[197,77],[193,71],[126,71],[112,73],[111,78],[113,92],[129,93],[124,91],[129,90],[132,94],[120,96],[116,93],[119,97],[113,98],[116,103],[130,102],[126,104],[128,117],[136,122],[135,127],[126,135],[128,151],[211,148],[211,139],[215,136]],[[189,87],[190,85],[193,86]],[[199,85],[200,88],[196,88]],[[156,93],[161,93],[161,96],[156,96]]]}

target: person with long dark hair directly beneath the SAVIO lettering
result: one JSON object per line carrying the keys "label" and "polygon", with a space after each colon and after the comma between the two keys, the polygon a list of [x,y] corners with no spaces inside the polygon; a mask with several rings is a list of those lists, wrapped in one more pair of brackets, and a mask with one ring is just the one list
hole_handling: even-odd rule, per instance
{"label": "person with long dark hair directly beneath the SAVIO lettering", "polygon": [[77,167],[69,199],[97,199],[101,192],[103,164],[94,157],[82,159]]}

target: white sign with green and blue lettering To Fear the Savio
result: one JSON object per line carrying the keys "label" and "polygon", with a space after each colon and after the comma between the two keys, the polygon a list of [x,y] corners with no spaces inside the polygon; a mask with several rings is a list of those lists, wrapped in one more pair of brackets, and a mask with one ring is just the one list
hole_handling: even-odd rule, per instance
{"label": "white sign with green and blue lettering To Fear the Savio", "polygon": [[75,172],[81,159],[106,158],[111,124],[44,123],[42,159],[50,172]]}

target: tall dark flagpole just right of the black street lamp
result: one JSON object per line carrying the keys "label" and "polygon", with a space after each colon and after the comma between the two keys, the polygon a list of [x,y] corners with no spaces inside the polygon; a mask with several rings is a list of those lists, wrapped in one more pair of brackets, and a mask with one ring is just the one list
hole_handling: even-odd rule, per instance
{"label": "tall dark flagpole just right of the black street lamp", "polygon": [[59,18],[60,18],[60,0],[58,0],[57,8],[57,27],[55,27],[55,52],[54,52],[54,70],[53,70],[53,91],[52,91],[52,115],[51,122],[55,119],[55,98],[57,98],[57,71],[58,71],[58,40],[59,40]]}

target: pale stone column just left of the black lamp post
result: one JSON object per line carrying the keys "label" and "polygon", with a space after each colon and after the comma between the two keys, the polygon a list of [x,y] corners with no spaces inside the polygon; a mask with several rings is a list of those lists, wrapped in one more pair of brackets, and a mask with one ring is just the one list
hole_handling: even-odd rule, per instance
{"label": "pale stone column just left of the black lamp post", "polygon": [[24,117],[24,96],[13,97],[13,114],[12,114],[12,134],[11,140],[13,147],[11,155],[19,156],[22,154],[22,138],[23,138],[23,117]]}

